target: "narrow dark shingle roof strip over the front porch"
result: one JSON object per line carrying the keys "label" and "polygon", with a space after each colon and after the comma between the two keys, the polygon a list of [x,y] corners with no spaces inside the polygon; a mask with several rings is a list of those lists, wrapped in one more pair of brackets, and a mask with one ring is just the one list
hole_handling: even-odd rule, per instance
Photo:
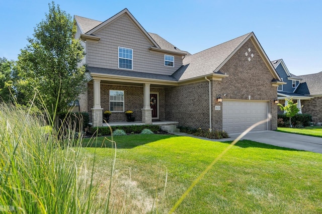
{"label": "narrow dark shingle roof strip over the front porch", "polygon": [[177,81],[177,79],[175,79],[173,76],[163,75],[163,74],[143,73],[143,72],[137,72],[137,71],[133,72],[133,71],[127,71],[127,70],[99,68],[99,67],[91,67],[91,66],[87,67],[87,70],[90,71],[91,73]]}

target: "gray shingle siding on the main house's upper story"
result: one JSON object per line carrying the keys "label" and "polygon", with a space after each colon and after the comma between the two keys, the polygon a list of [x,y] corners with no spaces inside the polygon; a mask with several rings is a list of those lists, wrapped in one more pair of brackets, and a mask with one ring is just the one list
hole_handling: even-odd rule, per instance
{"label": "gray shingle siding on the main house's upper story", "polygon": [[118,69],[118,47],[133,49],[133,71],[171,75],[182,65],[173,55],[175,66],[166,67],[165,53],[150,52],[152,44],[125,14],[93,34],[101,39],[87,42],[88,66]]}

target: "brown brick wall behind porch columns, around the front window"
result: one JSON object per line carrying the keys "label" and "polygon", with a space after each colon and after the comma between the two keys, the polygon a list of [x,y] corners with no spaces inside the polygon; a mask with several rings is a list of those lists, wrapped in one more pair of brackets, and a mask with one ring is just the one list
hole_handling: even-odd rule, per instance
{"label": "brown brick wall behind porch columns, around the front window", "polygon": [[[103,112],[110,109],[109,90],[123,90],[124,91],[124,110],[133,111],[135,121],[142,121],[143,108],[143,87],[129,86],[129,85],[112,85],[101,83],[101,106]],[[159,118],[164,120],[164,97],[165,90],[163,88],[150,88],[150,91],[159,92]],[[92,122],[92,108],[93,108],[93,83],[88,83],[88,112],[90,115],[90,122]],[[126,121],[124,112],[113,112],[110,116],[110,122]]]}

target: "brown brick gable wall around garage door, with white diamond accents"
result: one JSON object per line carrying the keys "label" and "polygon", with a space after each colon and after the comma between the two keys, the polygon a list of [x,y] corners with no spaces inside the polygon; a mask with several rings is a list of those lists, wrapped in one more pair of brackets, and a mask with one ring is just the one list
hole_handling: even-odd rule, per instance
{"label": "brown brick gable wall around garage door, with white diamond accents", "polygon": [[[248,49],[251,49],[249,52]],[[245,53],[248,53],[248,56]],[[254,57],[251,57],[251,54]],[[251,58],[251,61],[248,60]],[[274,98],[277,88],[272,86],[273,75],[257,52],[254,44],[248,40],[220,69],[229,77],[222,80],[220,94],[227,99],[270,100],[271,130],[277,129],[277,108]]]}

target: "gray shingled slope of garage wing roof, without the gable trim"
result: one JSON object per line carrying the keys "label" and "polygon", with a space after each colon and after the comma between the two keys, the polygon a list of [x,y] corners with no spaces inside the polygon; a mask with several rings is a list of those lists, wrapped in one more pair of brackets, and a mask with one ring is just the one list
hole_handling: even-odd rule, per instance
{"label": "gray shingled slope of garage wing roof, without the gable trim", "polygon": [[213,73],[250,34],[252,33],[186,56],[183,60],[183,66],[173,76],[176,79],[183,80]]}

